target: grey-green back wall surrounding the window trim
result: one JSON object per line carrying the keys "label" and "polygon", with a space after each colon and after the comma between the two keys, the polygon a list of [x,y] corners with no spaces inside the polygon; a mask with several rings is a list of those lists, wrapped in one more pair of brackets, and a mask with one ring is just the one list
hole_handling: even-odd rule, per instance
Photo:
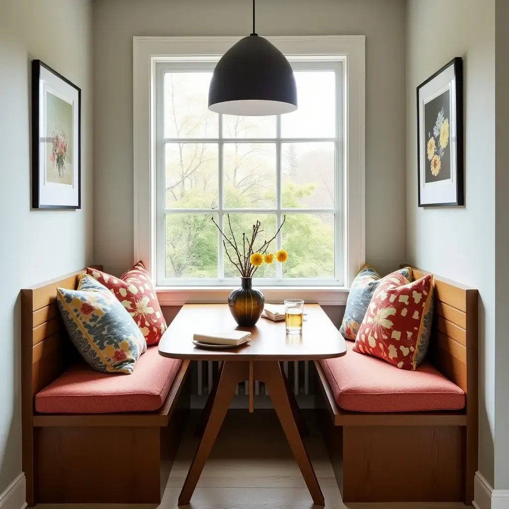
{"label": "grey-green back wall surrounding the window trim", "polygon": [[[260,35],[366,36],[366,259],[382,272],[405,259],[404,0],[260,0]],[[133,263],[132,37],[251,32],[238,0],[95,0],[94,256]],[[381,213],[383,210],[383,213]]]}

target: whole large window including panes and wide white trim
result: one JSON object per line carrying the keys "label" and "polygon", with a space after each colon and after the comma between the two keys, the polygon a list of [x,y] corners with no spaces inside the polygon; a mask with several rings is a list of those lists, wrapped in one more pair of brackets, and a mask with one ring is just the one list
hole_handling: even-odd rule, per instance
{"label": "whole large window including panes and wide white trim", "polygon": [[363,38],[270,39],[299,100],[277,117],[208,109],[234,38],[134,39],[135,251],[158,287],[236,285],[212,217],[237,242],[256,218],[267,238],[285,220],[271,250],[290,259],[258,270],[259,286],[348,287],[364,261]]}

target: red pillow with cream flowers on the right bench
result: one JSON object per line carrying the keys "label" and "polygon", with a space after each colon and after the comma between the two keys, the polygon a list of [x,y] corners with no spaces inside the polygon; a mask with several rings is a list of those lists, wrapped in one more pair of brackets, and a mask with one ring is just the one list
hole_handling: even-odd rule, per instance
{"label": "red pillow with cream flowers on the right bench", "polygon": [[428,351],[432,319],[433,275],[409,282],[393,272],[373,294],[353,350],[415,370]]}

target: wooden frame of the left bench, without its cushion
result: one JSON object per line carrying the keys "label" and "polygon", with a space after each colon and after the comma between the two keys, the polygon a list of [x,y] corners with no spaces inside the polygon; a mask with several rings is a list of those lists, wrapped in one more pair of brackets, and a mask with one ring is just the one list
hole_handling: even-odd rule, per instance
{"label": "wooden frame of the left bench, without its cushion", "polygon": [[162,460],[173,460],[189,409],[188,361],[180,365],[164,404],[155,412],[34,410],[35,395],[79,360],[55,299],[56,288],[76,288],[82,272],[21,290],[22,468],[27,504],[160,503],[169,474]]}

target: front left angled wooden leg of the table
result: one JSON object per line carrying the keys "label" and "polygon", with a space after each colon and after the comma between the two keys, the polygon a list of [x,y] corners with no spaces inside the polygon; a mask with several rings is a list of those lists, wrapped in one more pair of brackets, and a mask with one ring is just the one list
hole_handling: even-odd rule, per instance
{"label": "front left angled wooden leg of the table", "polygon": [[187,473],[184,486],[179,495],[179,505],[189,504],[196,484],[209,457],[212,446],[221,429],[222,421],[228,411],[230,402],[235,394],[235,389],[239,382],[249,378],[248,362],[227,362],[222,364],[221,377],[217,384],[217,389],[213,402],[211,403],[210,415],[207,426],[202,436],[202,440]]}

